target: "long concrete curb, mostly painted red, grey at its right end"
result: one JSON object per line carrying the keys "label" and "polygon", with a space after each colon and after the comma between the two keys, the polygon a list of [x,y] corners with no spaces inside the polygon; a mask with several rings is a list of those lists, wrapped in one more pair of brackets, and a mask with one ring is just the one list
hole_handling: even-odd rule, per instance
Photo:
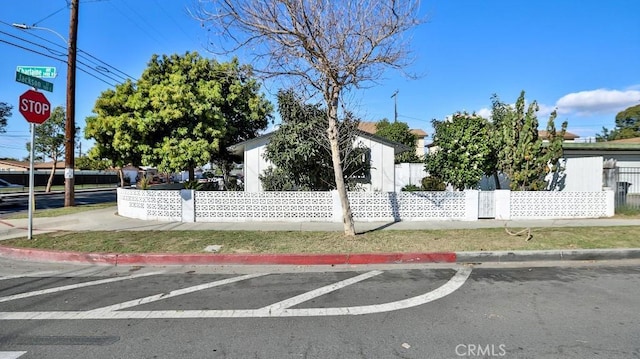
{"label": "long concrete curb, mostly painted red, grey at its right end", "polygon": [[640,248],[357,254],[117,254],[0,246],[0,257],[97,265],[357,265],[640,259]]}

